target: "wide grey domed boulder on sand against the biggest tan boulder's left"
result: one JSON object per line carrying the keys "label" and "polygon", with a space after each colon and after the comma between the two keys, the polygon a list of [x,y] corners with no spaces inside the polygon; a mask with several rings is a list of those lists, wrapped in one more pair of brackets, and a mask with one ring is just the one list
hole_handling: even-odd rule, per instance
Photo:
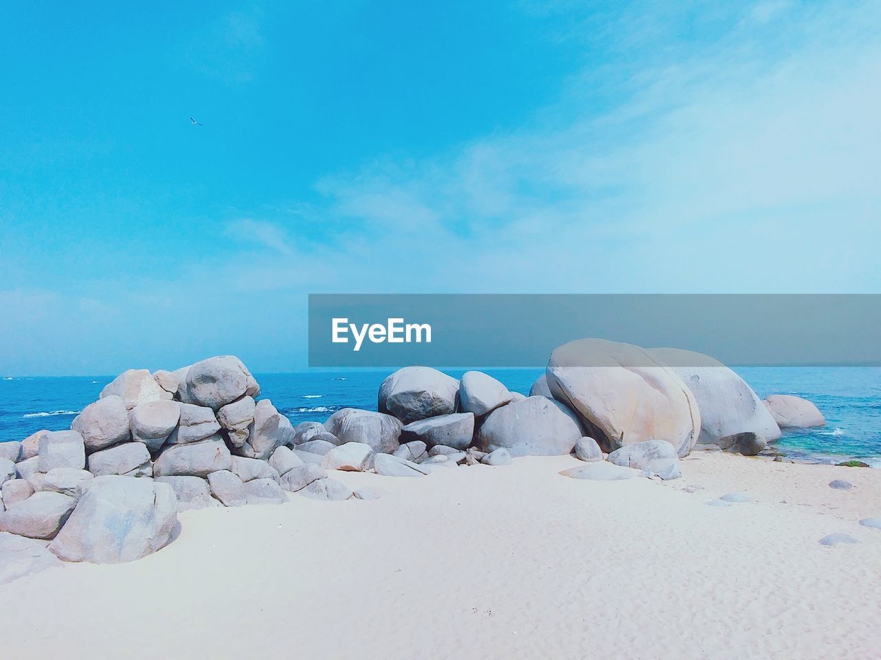
{"label": "wide grey domed boulder on sand against the biggest tan boulder's left", "polygon": [[559,401],[529,397],[493,410],[478,431],[477,446],[504,447],[511,456],[561,455],[583,435],[578,417]]}

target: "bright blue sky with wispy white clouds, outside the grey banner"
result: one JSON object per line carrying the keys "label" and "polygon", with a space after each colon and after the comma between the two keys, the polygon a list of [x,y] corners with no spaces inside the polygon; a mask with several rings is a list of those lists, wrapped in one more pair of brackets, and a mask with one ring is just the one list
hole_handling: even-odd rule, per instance
{"label": "bright blue sky with wispy white clouds, outside the grey banner", "polygon": [[300,369],[308,293],[881,291],[881,5],[321,5],[0,4],[0,373]]}

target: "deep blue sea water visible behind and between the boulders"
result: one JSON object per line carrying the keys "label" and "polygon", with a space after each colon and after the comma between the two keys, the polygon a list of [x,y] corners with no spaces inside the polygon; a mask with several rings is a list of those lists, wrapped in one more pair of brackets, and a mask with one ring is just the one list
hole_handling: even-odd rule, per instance
{"label": "deep blue sea water visible behind and between the boulders", "polygon": [[[485,370],[515,392],[529,393],[541,369]],[[754,367],[737,372],[759,394],[795,394],[813,401],[825,427],[789,430],[777,448],[793,458],[838,462],[858,458],[881,466],[881,368]],[[256,374],[261,398],[297,424],[323,422],[343,407],[376,409],[388,370]],[[460,377],[463,370],[448,370]],[[40,429],[68,429],[113,377],[0,378],[0,442]]]}

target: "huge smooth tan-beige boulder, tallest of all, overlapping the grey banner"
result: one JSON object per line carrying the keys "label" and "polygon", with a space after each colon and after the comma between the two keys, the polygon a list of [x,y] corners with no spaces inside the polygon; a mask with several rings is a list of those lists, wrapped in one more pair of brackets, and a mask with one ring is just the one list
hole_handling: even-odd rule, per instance
{"label": "huge smooth tan-beige boulder, tallest of all, overlapping the grey banner", "polygon": [[694,395],[643,348],[601,339],[570,341],[554,349],[545,373],[554,399],[578,414],[604,451],[666,440],[682,457],[697,442]]}

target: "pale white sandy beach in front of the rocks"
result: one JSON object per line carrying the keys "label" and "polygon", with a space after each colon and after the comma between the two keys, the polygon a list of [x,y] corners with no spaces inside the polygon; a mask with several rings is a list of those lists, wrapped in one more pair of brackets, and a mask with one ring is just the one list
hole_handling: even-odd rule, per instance
{"label": "pale white sandy beach in front of the rocks", "polygon": [[[695,454],[659,483],[574,458],[338,473],[380,500],[188,511],[141,561],[0,587],[5,657],[881,657],[881,471]],[[848,492],[827,486],[843,478]],[[694,493],[683,490],[697,486]],[[746,491],[755,502],[707,500]],[[827,548],[848,532],[860,543]]]}

